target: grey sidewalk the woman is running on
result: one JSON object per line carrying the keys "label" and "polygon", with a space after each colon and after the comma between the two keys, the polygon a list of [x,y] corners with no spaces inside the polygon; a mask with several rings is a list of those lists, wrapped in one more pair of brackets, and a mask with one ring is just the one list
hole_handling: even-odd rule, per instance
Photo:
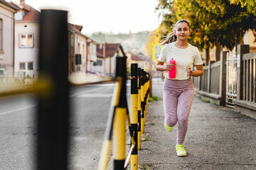
{"label": "grey sidewalk the woman is running on", "polygon": [[139,151],[140,169],[256,169],[256,121],[233,108],[216,106],[195,96],[183,143],[187,157],[176,156],[176,135],[164,128],[162,82],[153,81],[145,134]]}

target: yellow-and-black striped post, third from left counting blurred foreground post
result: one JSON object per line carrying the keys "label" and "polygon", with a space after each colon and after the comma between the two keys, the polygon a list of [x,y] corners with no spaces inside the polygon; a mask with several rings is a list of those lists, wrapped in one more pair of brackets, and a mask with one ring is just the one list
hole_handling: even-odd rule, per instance
{"label": "yellow-and-black striped post, third from left counting blurred foreground post", "polygon": [[131,110],[132,134],[134,134],[135,147],[132,152],[131,169],[138,169],[138,64],[131,64]]}

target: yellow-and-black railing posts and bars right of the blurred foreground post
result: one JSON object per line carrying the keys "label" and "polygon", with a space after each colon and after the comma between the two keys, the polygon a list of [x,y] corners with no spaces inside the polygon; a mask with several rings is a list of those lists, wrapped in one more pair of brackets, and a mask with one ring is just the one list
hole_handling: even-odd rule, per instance
{"label": "yellow-and-black railing posts and bars right of the blurred foreground post", "polygon": [[[122,60],[120,62],[119,60]],[[124,64],[125,63],[125,64]],[[141,134],[144,134],[144,122],[146,118],[146,106],[149,98],[149,74],[143,69],[138,69],[137,64],[132,64],[131,81],[131,110],[132,116],[129,118],[129,109],[126,98],[126,57],[117,57],[117,83],[112,97],[105,141],[102,145],[99,170],[107,169],[110,155],[110,147],[113,139],[114,169],[127,169],[131,159],[131,169],[138,169],[138,149],[141,146]],[[126,114],[125,114],[126,113]],[[126,115],[126,118],[125,118]],[[125,137],[126,120],[129,126],[131,137],[131,149],[125,159]],[[113,133],[113,134],[112,134]]]}

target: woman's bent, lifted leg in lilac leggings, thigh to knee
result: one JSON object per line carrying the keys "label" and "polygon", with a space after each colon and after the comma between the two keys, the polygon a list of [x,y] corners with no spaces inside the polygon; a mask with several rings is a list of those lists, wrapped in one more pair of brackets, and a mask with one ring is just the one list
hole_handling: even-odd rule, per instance
{"label": "woman's bent, lifted leg in lilac leggings, thigh to knee", "polygon": [[169,79],[164,80],[163,101],[164,101],[164,121],[167,125],[174,127],[177,123],[178,95],[174,90],[174,82]]}

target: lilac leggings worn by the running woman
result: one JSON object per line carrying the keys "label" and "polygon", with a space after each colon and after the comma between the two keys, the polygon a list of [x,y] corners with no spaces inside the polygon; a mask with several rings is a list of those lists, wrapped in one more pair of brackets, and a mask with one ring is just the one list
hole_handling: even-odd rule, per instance
{"label": "lilac leggings worn by the running woman", "polygon": [[164,116],[167,125],[173,127],[178,121],[177,144],[182,145],[188,130],[188,115],[191,111],[194,89],[191,79],[164,79]]}

